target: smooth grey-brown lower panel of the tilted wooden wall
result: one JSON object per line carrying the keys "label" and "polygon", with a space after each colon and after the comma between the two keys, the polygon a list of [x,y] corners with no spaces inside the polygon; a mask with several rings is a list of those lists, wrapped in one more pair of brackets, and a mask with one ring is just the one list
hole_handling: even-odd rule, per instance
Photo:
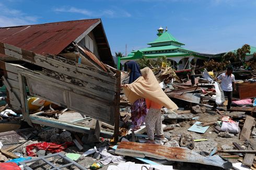
{"label": "smooth grey-brown lower panel of the tilted wooden wall", "polygon": [[82,90],[74,90],[72,84],[60,83],[59,80],[47,81],[46,78],[39,78],[25,72],[21,74],[26,76],[30,94],[114,125],[114,110],[117,106],[112,100],[92,98],[91,94]]}

